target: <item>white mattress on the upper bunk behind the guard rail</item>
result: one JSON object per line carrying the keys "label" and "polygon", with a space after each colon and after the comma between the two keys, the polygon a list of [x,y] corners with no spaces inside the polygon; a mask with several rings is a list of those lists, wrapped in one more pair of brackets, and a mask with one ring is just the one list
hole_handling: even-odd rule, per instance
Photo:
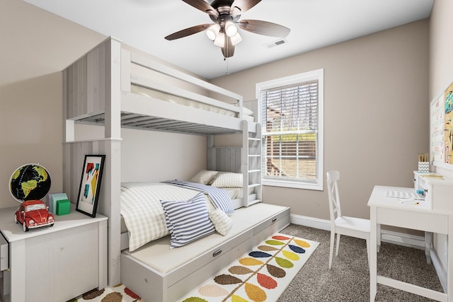
{"label": "white mattress on the upper bunk behind the guard rail", "polygon": [[[233,112],[231,110],[226,110],[224,108],[218,108],[213,105],[207,105],[205,103],[200,103],[195,100],[189,100],[187,98],[180,98],[179,96],[176,96],[176,95],[171,95],[171,94],[164,93],[161,91],[155,91],[153,89],[145,88],[142,86],[132,85],[131,92],[137,93],[140,95],[145,95],[148,98],[156,98],[159,100],[165,100],[166,102],[170,102],[170,103],[185,105],[185,106],[192,107],[192,108],[199,108],[202,110],[206,110],[209,112],[215,112],[215,113],[218,113],[221,115],[226,115],[229,117],[236,117],[236,112]],[[244,107],[243,108],[243,118],[245,120],[248,120],[249,122],[253,122],[253,120],[254,120],[253,112],[251,110],[249,110],[248,108]]]}

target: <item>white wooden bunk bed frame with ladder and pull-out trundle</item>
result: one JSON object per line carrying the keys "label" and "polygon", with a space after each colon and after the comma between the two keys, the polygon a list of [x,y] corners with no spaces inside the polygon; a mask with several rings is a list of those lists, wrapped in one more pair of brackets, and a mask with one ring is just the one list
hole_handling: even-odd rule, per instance
{"label": "white wooden bunk bed frame with ladder and pull-out trundle", "polygon": [[[109,37],[63,71],[63,98],[63,189],[72,202],[77,199],[84,156],[105,154],[98,212],[109,218],[109,285],[122,282],[145,300],[157,296],[160,301],[171,301],[183,292],[176,296],[168,292],[184,283],[192,286],[188,279],[193,277],[209,277],[234,260],[238,252],[289,224],[289,209],[285,207],[263,205],[262,211],[256,207],[253,214],[246,212],[261,199],[260,125],[243,115],[241,95],[156,62]],[[77,123],[102,124],[104,137],[76,141]],[[207,169],[243,175],[243,197],[234,200],[236,209],[242,207],[234,214],[238,217],[234,218],[234,234],[214,238],[202,255],[193,255],[195,261],[173,267],[171,272],[163,273],[132,257],[125,240],[121,241],[125,238],[120,219],[122,127],[206,135]],[[231,133],[242,134],[241,147],[214,146],[214,135]],[[211,255],[212,249],[219,246],[231,251],[230,256],[224,253],[221,261],[203,260],[206,255],[216,257]],[[209,262],[212,264],[207,265]],[[132,272],[138,274],[131,277]],[[150,278],[154,287],[147,284]]]}

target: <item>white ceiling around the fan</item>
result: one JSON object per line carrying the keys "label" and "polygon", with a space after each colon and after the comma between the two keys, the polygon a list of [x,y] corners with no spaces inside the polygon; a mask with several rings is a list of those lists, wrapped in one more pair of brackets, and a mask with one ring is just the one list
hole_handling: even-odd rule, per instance
{"label": "white ceiling around the fan", "polygon": [[[224,60],[205,33],[167,41],[166,35],[212,23],[181,0],[24,0],[188,71],[214,79],[277,59],[428,18],[434,0],[263,0],[242,14],[291,29],[287,43],[239,30],[243,41]],[[211,2],[211,1],[210,1]]]}

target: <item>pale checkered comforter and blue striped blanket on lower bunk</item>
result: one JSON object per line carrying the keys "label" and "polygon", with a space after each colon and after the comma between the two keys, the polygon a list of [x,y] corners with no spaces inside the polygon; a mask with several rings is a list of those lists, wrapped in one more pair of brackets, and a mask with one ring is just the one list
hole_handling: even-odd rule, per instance
{"label": "pale checkered comforter and blue striped blanket on lower bunk", "polygon": [[[188,202],[200,192],[207,213],[221,209],[226,214],[234,212],[229,192],[216,187],[195,182],[123,182],[121,184],[120,213],[129,233],[129,250],[133,251],[142,245],[171,234],[172,224],[168,223],[168,213],[161,201]],[[207,218],[207,216],[206,216]],[[176,231],[183,226],[178,225]],[[214,231],[214,226],[212,227]],[[221,229],[224,231],[224,228]],[[180,246],[185,241],[180,240],[180,233],[173,234],[175,244]],[[178,236],[177,236],[178,235]],[[184,243],[185,244],[185,243]]]}

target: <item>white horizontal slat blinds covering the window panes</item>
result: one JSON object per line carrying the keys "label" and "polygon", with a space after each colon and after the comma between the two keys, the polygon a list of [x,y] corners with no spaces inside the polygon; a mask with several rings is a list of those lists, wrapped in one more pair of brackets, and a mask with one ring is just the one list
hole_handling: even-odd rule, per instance
{"label": "white horizontal slat blinds covering the window panes", "polygon": [[319,81],[260,90],[263,180],[318,182]]}

